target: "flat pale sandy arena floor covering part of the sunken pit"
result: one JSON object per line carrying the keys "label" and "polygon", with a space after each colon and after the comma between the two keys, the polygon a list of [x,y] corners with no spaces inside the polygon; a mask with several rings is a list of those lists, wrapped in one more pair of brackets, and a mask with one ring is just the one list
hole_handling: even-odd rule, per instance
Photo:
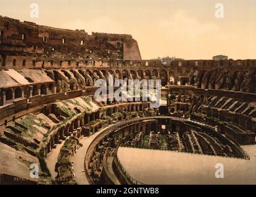
{"label": "flat pale sandy arena floor covering part of the sunken pit", "polygon": [[[243,146],[250,160],[172,151],[118,149],[126,171],[146,184],[256,184],[256,145]],[[215,177],[215,164],[224,165],[224,178]]]}

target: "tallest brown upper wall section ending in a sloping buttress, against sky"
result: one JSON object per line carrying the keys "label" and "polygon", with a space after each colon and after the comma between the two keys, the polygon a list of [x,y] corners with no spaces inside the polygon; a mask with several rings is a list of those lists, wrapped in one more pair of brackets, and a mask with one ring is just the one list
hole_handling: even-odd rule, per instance
{"label": "tallest brown upper wall section ending in a sloping buttress, against sky", "polygon": [[[0,31],[2,58],[12,55],[141,60],[138,44],[131,35],[127,34],[89,35],[85,30],[52,28],[31,22],[20,22],[8,17],[0,17]],[[124,43],[128,42],[134,42],[135,45],[126,44],[124,47]]]}

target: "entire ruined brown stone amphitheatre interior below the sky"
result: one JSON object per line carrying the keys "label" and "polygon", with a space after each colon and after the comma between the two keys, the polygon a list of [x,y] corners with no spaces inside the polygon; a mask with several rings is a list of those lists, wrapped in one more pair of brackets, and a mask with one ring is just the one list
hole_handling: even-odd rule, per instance
{"label": "entire ruined brown stone amphitheatre interior below the sky", "polygon": [[[167,66],[142,60],[129,34],[8,17],[0,17],[0,42],[1,183],[200,183],[207,162],[230,165],[230,174],[246,169],[228,182],[256,182],[256,60]],[[94,82],[110,76],[160,79],[160,107],[135,98],[97,102]],[[205,172],[188,174],[188,161]]]}

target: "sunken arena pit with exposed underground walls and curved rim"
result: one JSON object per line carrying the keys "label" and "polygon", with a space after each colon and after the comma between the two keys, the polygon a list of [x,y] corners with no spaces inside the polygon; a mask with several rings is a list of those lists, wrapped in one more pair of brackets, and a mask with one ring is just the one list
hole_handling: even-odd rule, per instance
{"label": "sunken arena pit with exposed underground walls and curved rim", "polygon": [[[165,125],[166,129],[162,129],[162,125]],[[171,131],[171,134],[168,134],[168,131]],[[104,164],[108,157],[116,159],[115,152],[120,145],[148,148],[143,146],[143,142],[145,135],[149,135],[149,132],[168,135],[170,142],[165,150],[250,159],[239,145],[215,131],[215,127],[170,116],[133,118],[105,129],[90,144],[85,156],[85,174],[89,183],[105,183]],[[161,147],[154,149],[162,150]],[[134,183],[122,167],[117,167],[120,164],[117,164],[118,160],[115,161],[115,159],[112,167],[120,182],[123,184]]]}

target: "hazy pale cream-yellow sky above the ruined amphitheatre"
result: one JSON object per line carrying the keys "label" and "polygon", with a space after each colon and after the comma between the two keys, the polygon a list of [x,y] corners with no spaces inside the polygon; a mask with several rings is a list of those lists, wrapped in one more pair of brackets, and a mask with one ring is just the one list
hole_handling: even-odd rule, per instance
{"label": "hazy pale cream-yellow sky above the ruined amphitheatre", "polygon": [[[30,17],[31,2],[2,0],[0,13],[89,33],[132,34],[143,59],[163,55],[210,59],[218,54],[234,59],[255,58],[254,0],[37,0],[33,2],[39,5],[39,18]],[[215,17],[217,3],[223,4],[223,18]]]}

